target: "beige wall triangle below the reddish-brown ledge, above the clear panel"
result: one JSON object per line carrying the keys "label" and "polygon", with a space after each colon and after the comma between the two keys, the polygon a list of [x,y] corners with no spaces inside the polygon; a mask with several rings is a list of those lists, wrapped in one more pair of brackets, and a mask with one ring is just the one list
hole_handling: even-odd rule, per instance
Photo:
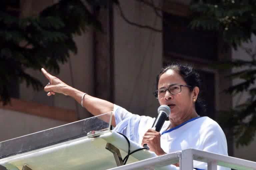
{"label": "beige wall triangle below the reddish-brown ledge, above the clear panel", "polygon": [[0,109],[0,141],[67,124],[20,112]]}

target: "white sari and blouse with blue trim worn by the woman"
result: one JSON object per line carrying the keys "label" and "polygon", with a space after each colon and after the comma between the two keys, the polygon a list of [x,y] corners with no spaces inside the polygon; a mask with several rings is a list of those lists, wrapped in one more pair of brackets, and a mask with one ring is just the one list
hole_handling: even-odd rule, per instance
{"label": "white sari and blouse with blue trim worn by the woman", "polygon": [[[145,132],[152,127],[155,121],[155,118],[134,115],[117,105],[114,105],[114,115],[117,125],[115,129],[118,129],[119,132],[125,134],[130,140],[139,144],[141,144]],[[165,121],[160,130],[162,134],[161,148],[166,153],[194,148],[228,155],[225,134],[218,123],[209,117],[192,119],[166,131],[169,126],[170,121]],[[194,168],[207,169],[207,163],[194,161]],[[218,170],[230,169],[218,166]]]}

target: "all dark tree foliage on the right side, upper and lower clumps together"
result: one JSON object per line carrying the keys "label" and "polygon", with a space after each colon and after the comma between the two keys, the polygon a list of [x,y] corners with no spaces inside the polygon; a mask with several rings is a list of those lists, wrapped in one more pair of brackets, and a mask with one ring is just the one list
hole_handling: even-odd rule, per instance
{"label": "all dark tree foliage on the right side, upper and lower clumps together", "polygon": [[[227,93],[237,95],[249,92],[247,101],[238,104],[230,111],[220,111],[220,122],[223,126],[233,128],[236,146],[248,145],[256,132],[256,88],[252,87],[256,78],[256,51],[242,46],[251,42],[256,35],[256,1],[255,0],[205,0],[191,3],[193,20],[191,28],[203,28],[218,31],[223,41],[235,50],[242,47],[251,60],[237,59],[218,63],[218,69],[241,68],[232,73],[232,79],[242,80],[226,89]],[[224,47],[225,48],[225,47]]]}

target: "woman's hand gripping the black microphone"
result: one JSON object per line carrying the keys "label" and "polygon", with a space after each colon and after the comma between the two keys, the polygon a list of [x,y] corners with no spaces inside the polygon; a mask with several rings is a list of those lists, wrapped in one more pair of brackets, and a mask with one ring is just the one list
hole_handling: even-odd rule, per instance
{"label": "woman's hand gripping the black microphone", "polygon": [[166,154],[160,145],[160,137],[161,134],[154,130],[148,129],[148,131],[144,134],[141,145],[143,146],[145,143],[148,145],[149,150],[155,152],[158,156]]}

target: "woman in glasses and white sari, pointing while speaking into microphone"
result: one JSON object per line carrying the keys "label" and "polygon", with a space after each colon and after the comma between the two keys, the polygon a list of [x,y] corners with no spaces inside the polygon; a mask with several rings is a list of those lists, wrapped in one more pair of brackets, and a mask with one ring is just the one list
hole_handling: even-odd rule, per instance
{"label": "woman in glasses and white sari, pointing while speaking into microphone", "polygon": [[[94,116],[112,111],[114,127],[117,126],[124,133],[138,130],[138,133],[131,132],[128,138],[142,145],[146,143],[150,151],[157,155],[187,148],[228,155],[226,137],[220,126],[212,119],[198,115],[205,111],[199,97],[200,79],[198,73],[189,65],[169,65],[157,76],[154,94],[160,105],[168,105],[171,109],[169,121],[165,121],[160,132],[151,129],[155,118],[133,115],[120,106],[68,86],[44,69],[42,72],[50,81],[44,88],[48,96],[56,92],[69,95]],[[207,169],[206,166],[206,163],[194,162],[195,168]]]}

